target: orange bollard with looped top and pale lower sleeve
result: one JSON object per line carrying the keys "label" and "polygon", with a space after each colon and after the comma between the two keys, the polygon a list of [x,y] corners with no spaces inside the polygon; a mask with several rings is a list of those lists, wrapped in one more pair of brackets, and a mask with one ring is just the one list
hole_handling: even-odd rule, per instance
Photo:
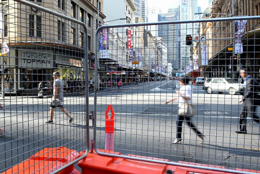
{"label": "orange bollard with looped top and pale lower sleeve", "polygon": [[[111,111],[111,118],[108,113]],[[114,134],[115,134],[115,112],[111,105],[106,109],[106,135],[105,135],[105,150],[114,151]]]}

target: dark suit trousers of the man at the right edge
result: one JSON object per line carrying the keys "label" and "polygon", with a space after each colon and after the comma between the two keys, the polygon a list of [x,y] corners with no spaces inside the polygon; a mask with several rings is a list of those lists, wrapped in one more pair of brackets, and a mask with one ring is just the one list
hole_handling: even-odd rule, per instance
{"label": "dark suit trousers of the man at the right edge", "polygon": [[252,117],[257,123],[260,124],[260,118],[255,115],[255,106],[253,106],[253,99],[246,99],[243,103],[239,114],[239,130],[246,132],[246,118]]}

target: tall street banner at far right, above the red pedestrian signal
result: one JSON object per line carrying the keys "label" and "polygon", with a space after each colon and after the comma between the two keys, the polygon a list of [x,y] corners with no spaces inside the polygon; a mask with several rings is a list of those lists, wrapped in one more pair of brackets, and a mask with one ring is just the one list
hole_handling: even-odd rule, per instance
{"label": "tall street banner at far right, above the red pedestrian signal", "polygon": [[235,21],[235,54],[243,53],[242,35],[246,27],[247,20]]}

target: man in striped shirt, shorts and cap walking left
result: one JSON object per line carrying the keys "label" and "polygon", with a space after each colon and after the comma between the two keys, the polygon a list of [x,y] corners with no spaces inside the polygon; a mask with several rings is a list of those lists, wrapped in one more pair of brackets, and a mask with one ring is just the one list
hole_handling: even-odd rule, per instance
{"label": "man in striped shirt, shorts and cap walking left", "polygon": [[60,73],[58,71],[54,72],[52,74],[52,77],[54,78],[53,82],[53,97],[52,101],[49,104],[50,107],[50,120],[48,120],[47,124],[53,123],[53,115],[54,115],[54,109],[56,107],[59,107],[62,112],[64,112],[67,117],[69,118],[69,124],[73,123],[73,118],[71,118],[68,111],[63,106],[63,88],[64,84],[63,81],[60,79]]}

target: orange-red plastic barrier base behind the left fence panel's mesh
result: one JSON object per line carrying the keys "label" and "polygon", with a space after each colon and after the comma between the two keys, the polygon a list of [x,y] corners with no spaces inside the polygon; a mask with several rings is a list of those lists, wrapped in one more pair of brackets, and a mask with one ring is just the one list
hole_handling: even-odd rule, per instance
{"label": "orange-red plastic barrier base behind the left fence panel's mesh", "polygon": [[[70,161],[78,158],[80,155],[75,150],[66,147],[45,148],[34,154],[29,159],[8,169],[2,174],[43,174],[51,173],[61,168]],[[74,168],[74,165],[67,167],[59,174],[81,174]]]}

